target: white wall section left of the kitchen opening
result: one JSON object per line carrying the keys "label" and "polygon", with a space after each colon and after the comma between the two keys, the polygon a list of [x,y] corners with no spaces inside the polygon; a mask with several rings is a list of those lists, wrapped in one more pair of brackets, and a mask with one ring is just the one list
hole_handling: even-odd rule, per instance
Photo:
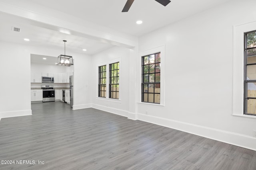
{"label": "white wall section left of the kitchen opening", "polygon": [[0,42],[0,117],[30,115],[30,53],[18,44]]}

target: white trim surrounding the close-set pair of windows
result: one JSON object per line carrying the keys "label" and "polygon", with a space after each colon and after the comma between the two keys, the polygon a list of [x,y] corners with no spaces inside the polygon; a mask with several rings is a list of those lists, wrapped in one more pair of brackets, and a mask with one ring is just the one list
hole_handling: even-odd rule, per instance
{"label": "white trim surrounding the close-set pair of windows", "polygon": [[[109,64],[117,63],[119,62],[119,99],[113,99],[109,98]],[[104,61],[102,63],[98,63],[97,65],[97,92],[96,92],[96,99],[97,100],[105,100],[105,101],[111,101],[111,102],[121,102],[121,94],[122,94],[122,65],[121,65],[121,58],[116,58],[108,61]],[[98,85],[99,85],[99,66],[106,65],[106,98],[102,98],[98,96]]]}

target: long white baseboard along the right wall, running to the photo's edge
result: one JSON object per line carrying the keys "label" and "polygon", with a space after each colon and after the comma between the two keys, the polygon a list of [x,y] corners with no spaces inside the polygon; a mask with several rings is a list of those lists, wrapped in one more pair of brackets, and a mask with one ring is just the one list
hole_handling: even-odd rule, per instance
{"label": "long white baseboard along the right wall, running to the photo's edge", "polygon": [[[155,117],[151,115],[144,115],[138,113],[138,120],[169,127],[179,131],[184,131],[194,135],[206,137],[216,141],[228,143],[238,147],[243,147],[256,151],[256,138],[247,135],[241,135],[238,133],[232,133],[229,131],[223,131],[220,129],[214,129],[210,127],[204,127],[200,125],[185,123],[181,121],[175,121],[171,119],[165,119],[161,117]],[[210,135],[209,135],[210,134]]]}

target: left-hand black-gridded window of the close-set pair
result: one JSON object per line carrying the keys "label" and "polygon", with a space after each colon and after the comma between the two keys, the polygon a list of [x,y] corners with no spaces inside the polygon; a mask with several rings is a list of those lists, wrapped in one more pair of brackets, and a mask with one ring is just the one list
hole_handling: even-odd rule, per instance
{"label": "left-hand black-gridded window of the close-set pair", "polygon": [[98,96],[106,98],[106,65],[99,66]]}

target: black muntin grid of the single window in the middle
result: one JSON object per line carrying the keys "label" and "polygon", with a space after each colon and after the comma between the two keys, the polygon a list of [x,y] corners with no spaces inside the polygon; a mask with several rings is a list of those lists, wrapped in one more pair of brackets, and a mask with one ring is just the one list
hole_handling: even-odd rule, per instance
{"label": "black muntin grid of the single window in the middle", "polygon": [[[150,56],[154,55],[154,63],[150,63]],[[156,55],[159,55],[158,59],[159,61],[156,61]],[[148,62],[144,62],[144,58],[148,57]],[[150,55],[146,55],[146,56],[142,56],[142,95],[141,95],[141,99],[142,102],[146,102],[146,103],[154,103],[154,104],[160,104],[160,75],[159,75],[159,82],[156,82],[156,74],[160,74],[160,63],[161,63],[161,53],[154,53],[154,54],[150,54]],[[154,72],[150,72],[150,65],[154,64]],[[159,69],[156,72],[156,64],[159,64]],[[145,66],[148,67],[148,71],[145,72],[144,68]],[[145,75],[147,75],[147,81],[145,82]],[[150,82],[150,74],[154,74],[154,82]],[[144,91],[144,85],[147,85],[147,92]],[[149,86],[153,85],[153,92],[149,92]],[[159,92],[156,92],[156,85],[159,86]],[[144,101],[144,95],[146,94],[147,96],[147,101]],[[149,95],[153,94],[153,102],[149,102]],[[155,101],[156,95],[159,95],[159,103]]]}

